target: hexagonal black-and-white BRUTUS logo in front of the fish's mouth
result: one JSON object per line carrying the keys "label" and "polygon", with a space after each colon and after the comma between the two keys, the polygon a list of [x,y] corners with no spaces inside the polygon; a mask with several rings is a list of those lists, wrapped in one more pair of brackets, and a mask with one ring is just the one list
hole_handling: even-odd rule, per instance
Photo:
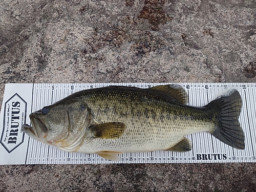
{"label": "hexagonal black-and-white BRUTUS logo in front of the fish's mouth", "polygon": [[26,123],[26,111],[27,102],[17,93],[5,103],[1,144],[8,153],[24,141],[24,133],[20,129]]}

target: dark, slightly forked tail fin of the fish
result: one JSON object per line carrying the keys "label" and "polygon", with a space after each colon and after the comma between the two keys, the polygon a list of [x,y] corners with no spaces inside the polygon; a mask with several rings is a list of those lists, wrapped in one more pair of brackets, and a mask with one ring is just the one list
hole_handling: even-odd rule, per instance
{"label": "dark, slightly forked tail fin of the fish", "polygon": [[233,90],[228,96],[222,96],[206,105],[217,113],[217,129],[211,134],[222,142],[244,150],[244,132],[238,118],[242,109],[242,99],[237,90]]}

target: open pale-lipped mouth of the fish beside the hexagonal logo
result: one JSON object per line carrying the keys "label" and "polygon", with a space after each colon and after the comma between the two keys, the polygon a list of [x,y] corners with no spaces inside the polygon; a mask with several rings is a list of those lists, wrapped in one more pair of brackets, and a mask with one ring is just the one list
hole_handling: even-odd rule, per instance
{"label": "open pale-lipped mouth of the fish beside the hexagonal logo", "polygon": [[24,124],[22,131],[32,137],[44,138],[47,136],[48,129],[44,121],[40,118],[35,117],[33,114],[29,115],[32,126]]}

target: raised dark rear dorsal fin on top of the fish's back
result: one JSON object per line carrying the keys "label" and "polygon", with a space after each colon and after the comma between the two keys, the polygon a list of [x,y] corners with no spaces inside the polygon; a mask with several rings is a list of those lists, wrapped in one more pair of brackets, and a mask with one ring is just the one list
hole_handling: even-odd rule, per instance
{"label": "raised dark rear dorsal fin on top of the fish's back", "polygon": [[158,90],[170,96],[173,96],[182,104],[188,103],[187,92],[178,84],[166,84],[165,86],[156,86],[150,89]]}

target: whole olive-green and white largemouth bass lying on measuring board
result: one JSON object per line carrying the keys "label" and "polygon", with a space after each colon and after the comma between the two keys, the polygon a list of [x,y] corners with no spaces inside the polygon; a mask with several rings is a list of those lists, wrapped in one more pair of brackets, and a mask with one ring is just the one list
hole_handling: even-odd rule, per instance
{"label": "whole olive-green and white largemouth bass lying on measuring board", "polygon": [[185,136],[199,132],[244,150],[237,90],[205,106],[187,103],[188,95],[178,84],[82,90],[31,113],[31,125],[24,124],[22,131],[66,152],[115,161],[122,153],[188,152],[192,144]]}

